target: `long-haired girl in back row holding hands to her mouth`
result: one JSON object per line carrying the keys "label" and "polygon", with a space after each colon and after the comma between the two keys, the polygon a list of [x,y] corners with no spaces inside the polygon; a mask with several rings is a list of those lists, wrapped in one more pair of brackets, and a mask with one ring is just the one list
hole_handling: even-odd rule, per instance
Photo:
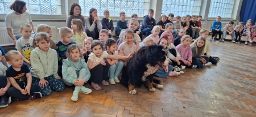
{"label": "long-haired girl in back row holding hands to her mouth", "polygon": [[98,17],[98,11],[96,8],[90,8],[90,16],[85,18],[85,32],[88,37],[92,37],[93,40],[98,39],[99,31],[102,29],[101,19]]}

